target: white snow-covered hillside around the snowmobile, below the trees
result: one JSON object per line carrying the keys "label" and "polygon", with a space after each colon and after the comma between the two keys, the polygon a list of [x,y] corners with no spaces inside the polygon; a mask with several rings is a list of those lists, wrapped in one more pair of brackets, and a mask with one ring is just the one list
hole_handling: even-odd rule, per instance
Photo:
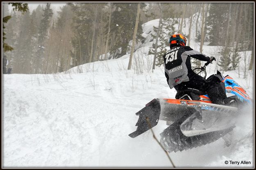
{"label": "white snow-covered hillside around the snowmobile, below the trees", "polygon": [[[152,45],[150,31],[158,22],[143,24],[146,41],[134,53],[130,71],[127,54],[55,75],[4,75],[3,166],[172,167],[150,131],[134,139],[128,136],[136,130],[138,110],[154,98],[174,98],[176,94],[166,82],[163,66],[152,73],[153,56],[147,55]],[[199,51],[200,44],[190,44]],[[205,45],[203,52],[218,59],[218,48]],[[216,71],[215,63],[207,68],[208,76]],[[253,98],[252,73],[247,80],[242,78],[242,71],[239,73],[224,75],[233,77]],[[224,148],[224,141],[219,139],[192,150],[172,152],[170,157],[177,167],[253,167],[253,120],[252,110],[244,113],[234,128],[230,147]],[[153,128],[159,139],[166,127],[160,121]],[[225,165],[226,160],[251,164]]]}

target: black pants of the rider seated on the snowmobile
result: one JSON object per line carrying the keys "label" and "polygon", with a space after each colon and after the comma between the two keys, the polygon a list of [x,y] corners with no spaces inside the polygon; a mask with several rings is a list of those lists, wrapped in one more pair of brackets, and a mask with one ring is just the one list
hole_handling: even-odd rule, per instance
{"label": "black pants of the rider seated on the snowmobile", "polygon": [[208,94],[213,104],[223,104],[223,99],[227,97],[226,92],[223,91],[222,86],[219,83],[208,82],[206,79],[197,74],[194,74],[190,81],[182,82],[181,84],[174,86],[174,88],[177,91],[182,91],[186,88],[194,88],[202,91]]}

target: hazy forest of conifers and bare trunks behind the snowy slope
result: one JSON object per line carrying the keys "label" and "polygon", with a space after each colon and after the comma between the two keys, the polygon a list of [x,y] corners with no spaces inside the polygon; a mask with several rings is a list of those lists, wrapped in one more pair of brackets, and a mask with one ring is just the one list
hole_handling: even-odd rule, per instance
{"label": "hazy forest of conifers and bare trunks behind the snowy slope", "polygon": [[[251,51],[250,56],[244,57],[250,57],[246,70],[253,67],[253,3],[66,3],[56,12],[50,3],[32,11],[12,10],[10,5],[2,3],[3,18],[11,16],[4,25],[4,43],[10,47],[3,52],[4,73],[11,68],[11,73],[54,74],[131,53],[138,12],[135,51],[145,41],[142,24],[160,18],[159,27],[154,27],[158,33],[152,33],[154,44],[148,52],[156,56],[154,66],[163,64],[170,35],[183,33],[188,27],[188,34],[183,34],[189,45],[191,27],[196,24],[200,52],[204,43],[222,46],[218,51],[220,69],[239,69],[240,51]],[[189,24],[185,18],[189,18]],[[174,24],[179,24],[179,30],[174,29]],[[193,64],[200,66],[197,61]]]}

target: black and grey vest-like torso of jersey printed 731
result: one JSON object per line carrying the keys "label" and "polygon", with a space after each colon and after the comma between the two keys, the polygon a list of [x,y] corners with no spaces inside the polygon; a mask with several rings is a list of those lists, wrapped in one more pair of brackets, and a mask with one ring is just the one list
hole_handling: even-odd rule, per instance
{"label": "black and grey vest-like torso of jersey printed 731", "polygon": [[168,84],[173,88],[181,82],[188,82],[188,68],[186,59],[188,55],[183,47],[175,47],[167,51],[164,55],[165,73],[169,76]]}

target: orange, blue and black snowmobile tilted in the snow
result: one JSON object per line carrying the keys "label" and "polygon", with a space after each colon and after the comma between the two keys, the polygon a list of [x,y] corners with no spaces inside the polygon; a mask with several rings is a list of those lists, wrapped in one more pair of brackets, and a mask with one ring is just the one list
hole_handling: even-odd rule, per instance
{"label": "orange, blue and black snowmobile tilted in the snow", "polygon": [[[195,73],[206,78],[207,62]],[[233,119],[245,104],[252,104],[246,91],[229,75],[220,71],[209,76],[207,81],[219,83],[227,98],[224,105],[212,104],[208,95],[197,89],[187,88],[176,94],[175,99],[153,99],[139,110],[137,130],[129,134],[134,138],[156,126],[159,120],[166,121],[168,128],[160,134],[161,144],[170,152],[177,152],[209,144],[235,128]]]}

